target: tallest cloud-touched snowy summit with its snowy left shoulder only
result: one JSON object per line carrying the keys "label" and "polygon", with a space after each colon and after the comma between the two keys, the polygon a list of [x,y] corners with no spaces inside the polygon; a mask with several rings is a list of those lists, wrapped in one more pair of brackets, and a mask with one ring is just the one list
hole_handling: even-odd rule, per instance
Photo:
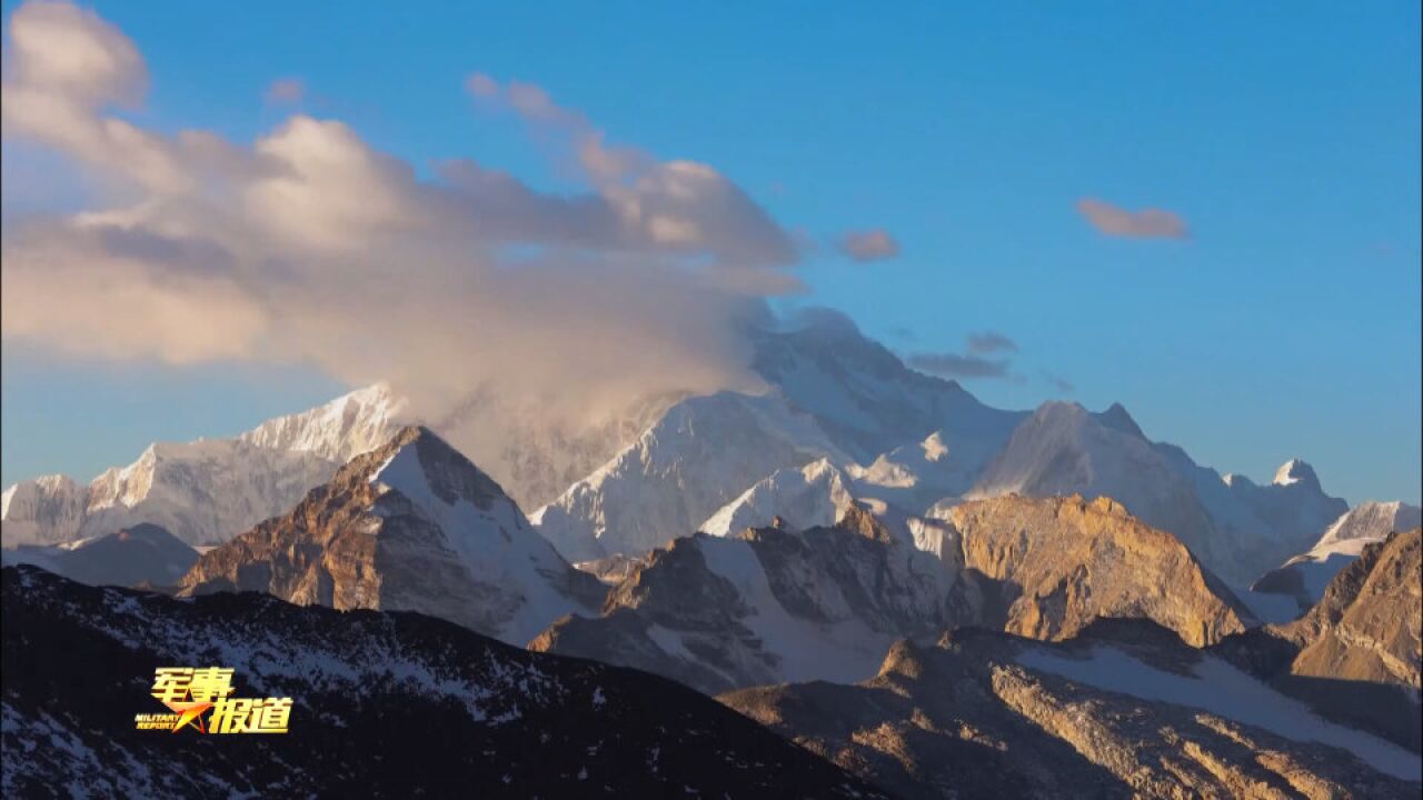
{"label": "tallest cloud-touched snowy summit with its snowy left shoulder only", "polygon": [[[566,558],[645,552],[696,531],[773,473],[820,458],[881,481],[887,495],[914,494],[912,485],[895,484],[905,480],[895,474],[895,460],[922,460],[932,467],[921,471],[919,494],[961,494],[1023,417],[905,367],[838,315],[790,332],[758,332],[754,344],[753,369],[766,380],[766,394],[723,391],[677,403],[636,443],[531,515]],[[918,447],[919,456],[905,447]],[[877,463],[881,454],[885,460]],[[861,463],[872,465],[861,470]]]}

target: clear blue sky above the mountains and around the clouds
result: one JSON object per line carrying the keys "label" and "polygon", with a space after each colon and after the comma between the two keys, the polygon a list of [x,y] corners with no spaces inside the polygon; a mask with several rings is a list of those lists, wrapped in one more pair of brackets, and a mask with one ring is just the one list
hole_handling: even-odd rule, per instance
{"label": "clear blue sky above the mountains and around the clouds", "polygon": [[[292,112],[263,93],[295,77],[303,111],[423,175],[472,157],[576,191],[462,90],[471,73],[538,84],[609,140],[714,165],[818,242],[793,268],[808,290],[777,303],[844,310],[905,354],[1010,339],[1009,374],[965,380],[990,404],[1121,401],[1222,471],[1268,480],[1299,456],[1350,501],[1419,500],[1417,3],[758,6],[95,9],[142,53],[129,117],[154,130],[250,142]],[[4,155],[7,222],[92,194],[43,148],[7,138]],[[1104,235],[1083,198],[1167,209],[1190,236]],[[827,245],[871,228],[896,258]],[[3,481],[87,480],[154,438],[337,390],[314,369],[7,342]]]}

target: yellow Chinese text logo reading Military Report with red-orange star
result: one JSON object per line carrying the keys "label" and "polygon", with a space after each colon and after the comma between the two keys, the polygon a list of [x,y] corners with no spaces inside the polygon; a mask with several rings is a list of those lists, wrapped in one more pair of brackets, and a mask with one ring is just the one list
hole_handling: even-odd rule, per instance
{"label": "yellow Chinese text logo reading Military Report with red-orange star", "polygon": [[137,715],[134,722],[139,730],[174,733],[188,726],[199,733],[286,733],[292,698],[232,698],[232,673],[219,666],[159,666],[154,698],[172,713]]}

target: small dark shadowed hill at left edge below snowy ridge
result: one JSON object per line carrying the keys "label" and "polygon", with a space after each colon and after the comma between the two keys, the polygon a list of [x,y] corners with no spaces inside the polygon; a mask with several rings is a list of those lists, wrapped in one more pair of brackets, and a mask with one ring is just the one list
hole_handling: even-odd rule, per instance
{"label": "small dark shadowed hill at left edge below snowy ridge", "polygon": [[0,551],[4,564],[34,564],[92,586],[172,586],[198,561],[198,551],[158,525],[134,525],[77,545],[21,545]]}

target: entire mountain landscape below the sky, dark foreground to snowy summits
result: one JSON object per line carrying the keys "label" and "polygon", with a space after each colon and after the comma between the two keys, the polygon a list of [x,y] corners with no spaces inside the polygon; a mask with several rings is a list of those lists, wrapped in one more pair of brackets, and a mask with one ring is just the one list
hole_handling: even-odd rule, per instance
{"label": "entire mountain landscape below the sky, dark foreground to snowy summits", "polygon": [[[1409,507],[1348,510],[1298,460],[1266,485],[1221,477],[1120,406],[996,411],[827,325],[768,333],[766,393],[670,400],[528,517],[383,386],[155,446],[105,473],[127,487],[107,505],[92,485],[57,502],[60,478],[11,487],[6,564],[33,567],[6,569],[6,791],[80,770],[120,776],[90,793],[178,793],[118,769],[158,759],[149,739],[92,735],[132,692],[51,696],[81,653],[139,673],[221,658],[357,737],[394,725],[381,759],[297,750],[303,776],[361,787],[438,756],[433,793],[666,794],[677,776],[731,796],[1417,794]],[[259,467],[286,477],[233,478]],[[242,502],[203,505],[231,487]],[[1350,558],[1318,602],[1244,589],[1311,548]],[[1298,608],[1261,619],[1261,598]],[[63,746],[10,759],[37,737]],[[218,791],[280,780],[201,760]]]}

